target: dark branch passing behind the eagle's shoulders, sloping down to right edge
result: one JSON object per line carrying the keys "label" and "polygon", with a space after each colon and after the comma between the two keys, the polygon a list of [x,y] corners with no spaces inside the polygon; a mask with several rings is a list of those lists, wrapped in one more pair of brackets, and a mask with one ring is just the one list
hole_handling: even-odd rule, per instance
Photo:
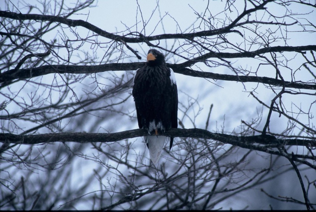
{"label": "dark branch passing behind the eagle's shoulders, sloping down to right edge", "polygon": [[[135,63],[109,63],[102,65],[43,65],[32,69],[20,69],[16,71],[11,69],[7,72],[0,73],[0,83],[14,79],[28,79],[32,77],[42,76],[50,73],[75,73],[75,74],[91,74],[105,71],[132,71],[142,67],[144,62]],[[212,72],[195,71],[189,68],[182,68],[182,64],[167,64],[174,72],[192,77],[210,78],[215,80],[236,81],[236,82],[257,82],[270,84],[273,86],[283,86],[280,79],[257,77],[257,76],[236,76],[228,74],[217,74]],[[316,84],[304,84],[295,82],[284,82],[287,88],[316,90]]]}

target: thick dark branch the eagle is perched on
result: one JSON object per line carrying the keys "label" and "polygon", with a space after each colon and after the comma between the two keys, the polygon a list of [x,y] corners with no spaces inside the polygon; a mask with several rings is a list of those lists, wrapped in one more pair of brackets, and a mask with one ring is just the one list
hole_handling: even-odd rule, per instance
{"label": "thick dark branch the eagle is perched on", "polygon": [[[309,146],[316,147],[315,140],[303,139],[276,139],[272,135],[253,135],[253,136],[234,136],[228,134],[212,133],[210,131],[198,128],[192,129],[169,129],[166,132],[161,132],[161,135],[172,137],[189,137],[196,139],[211,139],[217,140],[226,144],[236,145],[239,147],[247,147],[250,144],[264,144],[276,146]],[[129,138],[141,137],[148,135],[146,130],[133,129],[119,133],[48,133],[35,135],[17,135],[9,133],[0,134],[0,142],[14,144],[40,144],[48,142],[114,142]],[[253,145],[252,145],[253,146]],[[259,146],[258,146],[259,147]]]}

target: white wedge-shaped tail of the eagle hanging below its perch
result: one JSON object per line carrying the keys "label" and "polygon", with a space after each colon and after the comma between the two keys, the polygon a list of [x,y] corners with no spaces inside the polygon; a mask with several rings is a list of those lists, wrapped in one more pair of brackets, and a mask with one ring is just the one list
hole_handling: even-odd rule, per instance
{"label": "white wedge-shaped tail of the eagle hanging below its perch", "polygon": [[161,151],[165,146],[165,142],[170,140],[167,136],[162,135],[150,135],[144,136],[145,143],[149,149],[149,155],[151,161],[153,161],[154,165],[157,167],[158,161],[161,155]]}

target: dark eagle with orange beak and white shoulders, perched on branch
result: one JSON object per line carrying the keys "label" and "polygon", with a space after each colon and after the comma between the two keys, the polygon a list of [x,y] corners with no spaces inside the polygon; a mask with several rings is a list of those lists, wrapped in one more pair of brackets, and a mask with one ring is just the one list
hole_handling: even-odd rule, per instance
{"label": "dark eagle with orange beak and white shoulders, perched on branch", "polygon": [[166,66],[165,56],[156,49],[150,49],[147,63],[139,68],[134,77],[132,90],[138,127],[148,131],[144,141],[149,149],[150,159],[157,166],[165,142],[173,137],[159,135],[170,128],[178,128],[178,89],[171,68]]}

